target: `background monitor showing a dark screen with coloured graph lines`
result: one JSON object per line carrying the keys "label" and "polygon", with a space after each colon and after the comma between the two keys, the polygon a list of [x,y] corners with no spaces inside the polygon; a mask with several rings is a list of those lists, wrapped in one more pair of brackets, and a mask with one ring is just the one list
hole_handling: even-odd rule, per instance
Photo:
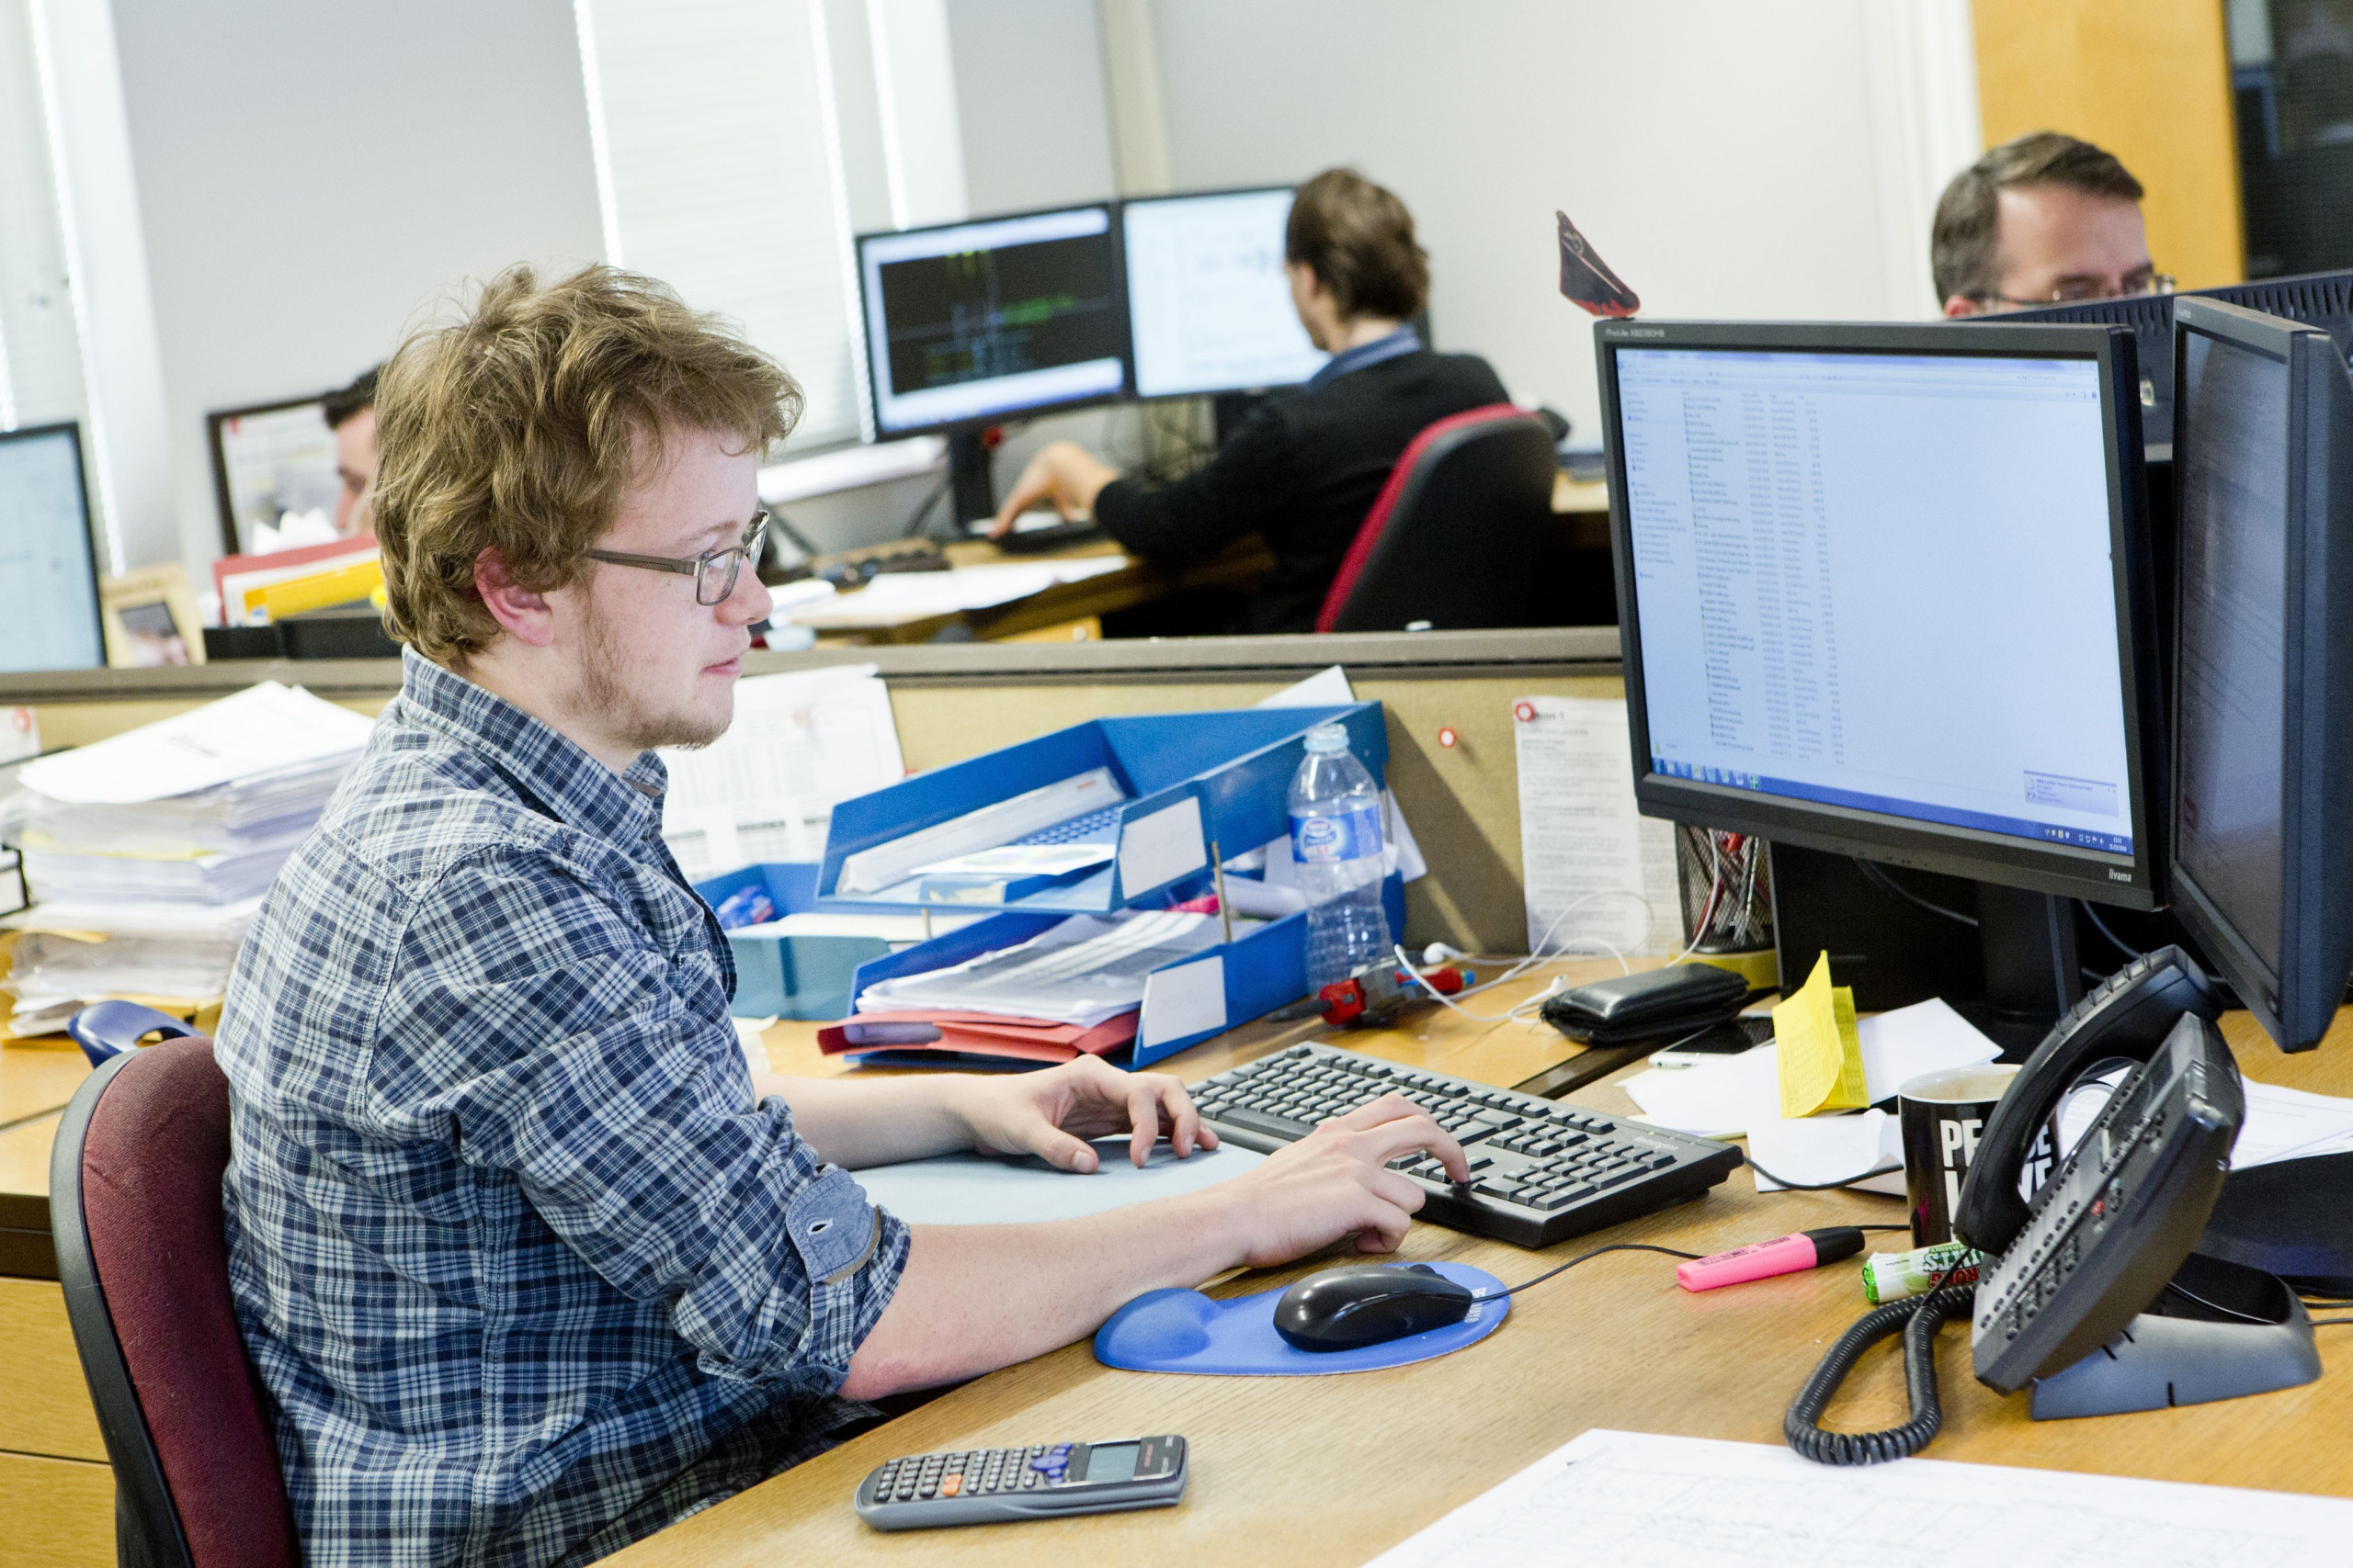
{"label": "background monitor showing a dark screen with coloured graph lines", "polygon": [[875,435],[1127,395],[1127,289],[1108,202],[856,244]]}

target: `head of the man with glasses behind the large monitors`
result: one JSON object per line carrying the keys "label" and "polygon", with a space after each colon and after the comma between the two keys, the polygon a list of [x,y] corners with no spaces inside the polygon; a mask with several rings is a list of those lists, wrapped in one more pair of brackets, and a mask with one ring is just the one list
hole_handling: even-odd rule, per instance
{"label": "head of the man with glasses behind the large monitors", "polygon": [[2172,294],[2148,259],[2141,181],[2089,141],[2028,132],[1953,176],[1929,268],[1946,315]]}

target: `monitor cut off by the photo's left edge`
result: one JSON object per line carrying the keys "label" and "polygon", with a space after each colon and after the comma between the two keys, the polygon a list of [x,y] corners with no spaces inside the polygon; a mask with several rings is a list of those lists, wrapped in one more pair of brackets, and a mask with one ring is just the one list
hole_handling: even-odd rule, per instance
{"label": "monitor cut off by the photo's left edge", "polygon": [[0,670],[96,670],[99,559],[78,425],[0,430]]}

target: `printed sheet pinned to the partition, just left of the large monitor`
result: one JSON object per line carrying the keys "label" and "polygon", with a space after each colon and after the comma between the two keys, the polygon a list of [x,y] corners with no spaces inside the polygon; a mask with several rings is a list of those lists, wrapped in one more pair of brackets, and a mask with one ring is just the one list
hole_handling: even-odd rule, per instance
{"label": "printed sheet pinned to the partition, just left of the large monitor", "polygon": [[1675,830],[1633,802],[1621,698],[1513,703],[1529,952],[1682,950]]}

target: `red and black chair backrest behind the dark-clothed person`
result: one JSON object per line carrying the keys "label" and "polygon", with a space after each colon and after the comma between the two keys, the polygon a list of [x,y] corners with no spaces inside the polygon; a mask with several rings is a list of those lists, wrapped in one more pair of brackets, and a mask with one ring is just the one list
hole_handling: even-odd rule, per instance
{"label": "red and black chair backrest behind the dark-clothed person", "polygon": [[1553,435],[1497,402],[1414,437],[1325,592],[1318,632],[1548,625]]}

